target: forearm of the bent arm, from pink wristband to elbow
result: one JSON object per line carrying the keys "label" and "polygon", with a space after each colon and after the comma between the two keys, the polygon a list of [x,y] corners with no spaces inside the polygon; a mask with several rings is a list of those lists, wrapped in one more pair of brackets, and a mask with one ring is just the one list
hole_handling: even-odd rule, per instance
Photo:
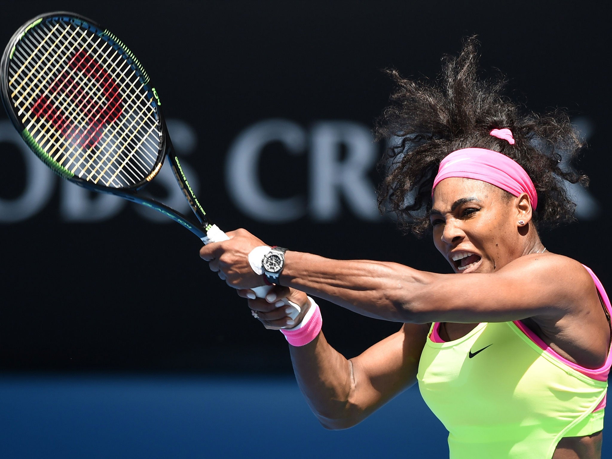
{"label": "forearm of the bent arm, from pink wristband to elbow", "polygon": [[348,428],[362,420],[351,403],[353,365],[327,343],[323,332],[305,346],[289,346],[297,384],[321,425]]}

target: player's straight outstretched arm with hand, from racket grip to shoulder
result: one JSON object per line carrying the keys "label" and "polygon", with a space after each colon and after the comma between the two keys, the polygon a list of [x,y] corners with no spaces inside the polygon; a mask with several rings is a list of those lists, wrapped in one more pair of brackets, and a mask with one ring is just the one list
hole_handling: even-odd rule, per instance
{"label": "player's straight outstretched arm with hand, from racket grip to shoulder", "polygon": [[[263,285],[248,253],[264,245],[245,230],[200,250],[234,288]],[[288,251],[280,284],[362,315],[403,323],[502,322],[561,318],[592,294],[589,274],[560,255],[521,256],[492,274],[435,274],[398,263],[334,260]]]}

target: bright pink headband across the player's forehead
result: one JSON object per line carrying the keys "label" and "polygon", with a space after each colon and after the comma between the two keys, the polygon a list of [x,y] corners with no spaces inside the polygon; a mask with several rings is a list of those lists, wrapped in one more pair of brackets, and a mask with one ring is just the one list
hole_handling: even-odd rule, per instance
{"label": "bright pink headband across the player's forehead", "polygon": [[532,207],[537,207],[537,193],[528,174],[515,160],[496,151],[464,148],[447,155],[440,163],[438,175],[433,181],[432,196],[436,185],[449,177],[481,180],[514,196],[527,193]]}

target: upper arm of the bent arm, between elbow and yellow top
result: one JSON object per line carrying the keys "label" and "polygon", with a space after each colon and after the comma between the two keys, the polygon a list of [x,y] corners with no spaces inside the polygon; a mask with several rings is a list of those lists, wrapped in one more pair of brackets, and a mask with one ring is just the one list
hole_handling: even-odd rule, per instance
{"label": "upper arm of the bent arm, between elbow and yellow top", "polygon": [[416,383],[428,324],[404,324],[401,329],[351,359],[353,390],[350,402],[363,417]]}

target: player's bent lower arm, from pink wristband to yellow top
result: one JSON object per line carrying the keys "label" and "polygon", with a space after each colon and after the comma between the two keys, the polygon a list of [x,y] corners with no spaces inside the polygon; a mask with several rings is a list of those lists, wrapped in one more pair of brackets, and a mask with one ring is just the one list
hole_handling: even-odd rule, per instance
{"label": "player's bent lower arm, from pink wristband to yellow top", "polygon": [[330,429],[352,427],[416,383],[429,327],[404,324],[350,360],[323,334],[306,346],[291,346],[297,382],[319,422]]}

